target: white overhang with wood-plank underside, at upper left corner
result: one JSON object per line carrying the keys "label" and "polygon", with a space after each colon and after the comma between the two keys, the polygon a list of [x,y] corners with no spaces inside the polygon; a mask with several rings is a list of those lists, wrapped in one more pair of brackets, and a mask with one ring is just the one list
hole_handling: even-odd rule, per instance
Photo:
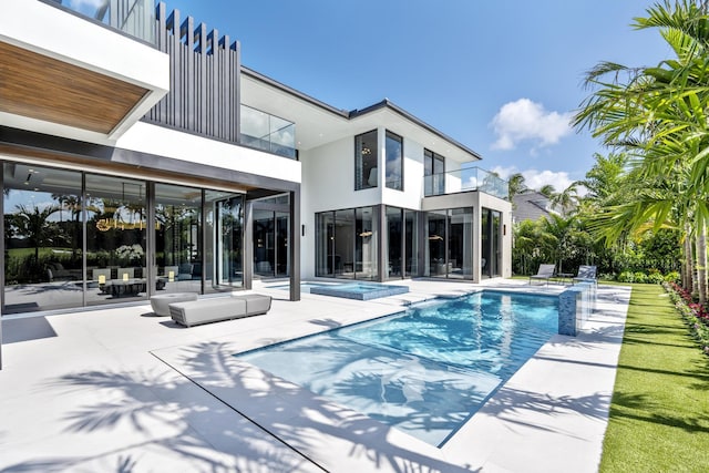
{"label": "white overhang with wood-plank underside, at upper left corner", "polygon": [[112,142],[169,89],[169,59],[152,45],[40,1],[0,16],[0,121]]}

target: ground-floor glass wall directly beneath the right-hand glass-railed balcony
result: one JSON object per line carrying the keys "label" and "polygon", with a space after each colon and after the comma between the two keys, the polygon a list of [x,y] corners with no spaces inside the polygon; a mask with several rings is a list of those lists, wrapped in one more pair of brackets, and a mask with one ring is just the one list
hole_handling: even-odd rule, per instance
{"label": "ground-floor glass wall directly beneath the right-hand glass-railed balcony", "polygon": [[439,278],[473,278],[473,209],[450,208],[427,214],[427,274]]}

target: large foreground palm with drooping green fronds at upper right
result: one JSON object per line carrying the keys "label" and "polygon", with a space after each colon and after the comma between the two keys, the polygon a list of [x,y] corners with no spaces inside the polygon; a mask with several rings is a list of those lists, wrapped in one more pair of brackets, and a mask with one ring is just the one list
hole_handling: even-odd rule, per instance
{"label": "large foreground palm with drooping green fronds at upper right", "polygon": [[[676,58],[651,68],[627,68],[602,63],[587,75],[597,88],[574,119],[577,127],[589,127],[593,135],[607,145],[628,153],[630,167],[647,192],[626,194],[605,219],[618,228],[639,227],[653,222],[665,225],[669,216],[681,212],[678,219],[695,235],[698,249],[699,292],[707,294],[706,226],[709,218],[709,17],[707,6],[689,0],[674,4],[665,1],[636,19],[638,29],[659,28]],[[672,176],[672,177],[669,177]],[[654,189],[671,186],[668,178],[681,176],[684,197],[679,202],[657,198]],[[655,187],[654,187],[655,186]],[[679,196],[679,194],[674,194]],[[633,202],[635,200],[635,202]],[[631,224],[621,222],[624,213]],[[615,216],[614,216],[615,214]],[[688,251],[686,258],[690,258]],[[689,266],[689,264],[687,265]]]}

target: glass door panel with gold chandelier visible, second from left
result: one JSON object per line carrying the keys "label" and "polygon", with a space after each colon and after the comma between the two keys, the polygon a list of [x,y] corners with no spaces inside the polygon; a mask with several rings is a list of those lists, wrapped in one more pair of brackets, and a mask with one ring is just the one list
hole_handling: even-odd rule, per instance
{"label": "glass door panel with gold chandelier visible, second from left", "polygon": [[146,183],[86,174],[86,305],[147,297]]}

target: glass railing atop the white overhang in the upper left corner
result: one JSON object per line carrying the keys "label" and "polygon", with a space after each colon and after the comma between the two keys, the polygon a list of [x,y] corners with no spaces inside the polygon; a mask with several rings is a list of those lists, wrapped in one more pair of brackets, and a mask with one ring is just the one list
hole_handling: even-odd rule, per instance
{"label": "glass railing atop the white overhang in the upper left corner", "polygon": [[155,44],[155,0],[53,0],[48,3]]}

